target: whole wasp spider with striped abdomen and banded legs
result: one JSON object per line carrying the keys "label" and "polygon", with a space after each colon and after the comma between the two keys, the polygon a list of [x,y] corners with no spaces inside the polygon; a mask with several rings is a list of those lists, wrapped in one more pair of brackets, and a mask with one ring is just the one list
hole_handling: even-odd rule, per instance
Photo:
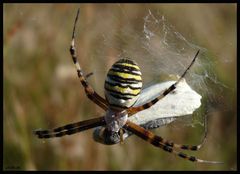
{"label": "whole wasp spider with striped abdomen and banded legs", "polygon": [[[164,87],[165,90],[161,90],[163,92],[158,92],[157,96],[151,98],[150,101],[146,101],[146,99],[144,99],[146,98],[146,96],[140,95],[142,89],[142,78],[141,71],[137,63],[129,58],[122,58],[118,60],[112,65],[111,69],[108,71],[104,86],[104,99],[90,86],[87,81],[87,77],[84,76],[81,66],[78,62],[75,48],[75,29],[78,21],[78,16],[79,9],[77,11],[73,26],[70,54],[73,63],[76,66],[77,75],[82,86],[85,89],[87,97],[95,104],[100,106],[103,110],[105,110],[106,114],[98,118],[67,124],[65,126],[61,126],[52,130],[36,130],[34,131],[35,135],[38,138],[62,137],[64,135],[71,135],[87,129],[96,128],[93,134],[94,139],[95,141],[103,144],[116,144],[119,142],[123,142],[123,140],[126,139],[128,136],[130,136],[131,134],[135,134],[136,136],[151,143],[152,145],[159,147],[164,151],[173,153],[183,159],[187,159],[189,161],[197,163],[221,163],[217,161],[198,159],[194,156],[189,156],[181,151],[176,150],[182,149],[196,151],[200,149],[203,143],[199,145],[176,144],[172,141],[166,140],[160,136],[153,134],[149,130],[174,121],[175,118],[173,116],[170,118],[161,118],[158,119],[158,121],[155,120],[155,122],[145,121],[145,124],[142,125],[136,124],[136,122],[131,119],[134,117],[136,118],[137,114],[144,113],[144,111],[149,110],[149,108],[151,108],[152,106],[157,105],[157,103],[159,103],[164,97],[170,96],[172,92],[177,91],[177,87],[180,88],[181,84],[184,83],[184,76],[194,64],[200,50],[197,51],[192,62],[184,71],[184,73],[180,76],[180,78],[177,81],[166,83]],[[158,88],[152,87],[152,89]],[[138,102],[139,98],[142,98],[143,101]],[[195,106],[195,108],[192,109],[191,113],[199,106],[200,104],[198,104],[198,106]],[[147,117],[147,115],[145,115],[145,117]],[[150,125],[146,123],[150,123]]]}

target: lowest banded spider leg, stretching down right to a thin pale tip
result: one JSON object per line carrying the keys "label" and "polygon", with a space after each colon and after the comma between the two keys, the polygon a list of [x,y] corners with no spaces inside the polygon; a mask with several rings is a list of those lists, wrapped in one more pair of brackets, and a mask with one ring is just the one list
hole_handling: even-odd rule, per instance
{"label": "lowest banded spider leg, stretching down right to a thin pale tip", "polygon": [[130,121],[127,121],[126,125],[124,126],[125,129],[127,129],[128,131],[131,131],[132,133],[134,133],[135,135],[137,135],[138,137],[142,138],[143,140],[151,143],[152,145],[159,147],[161,149],[163,149],[164,151],[170,152],[170,153],[174,153],[177,156],[184,158],[186,160],[192,161],[192,162],[197,162],[197,163],[209,163],[209,164],[220,164],[222,162],[218,162],[218,161],[206,161],[206,160],[202,160],[202,159],[198,159],[194,156],[189,156],[187,154],[184,154],[182,152],[176,151],[173,149],[173,147],[165,144],[164,142],[162,142],[162,138],[159,136],[154,135],[152,132],[142,128],[141,126],[138,126]]}

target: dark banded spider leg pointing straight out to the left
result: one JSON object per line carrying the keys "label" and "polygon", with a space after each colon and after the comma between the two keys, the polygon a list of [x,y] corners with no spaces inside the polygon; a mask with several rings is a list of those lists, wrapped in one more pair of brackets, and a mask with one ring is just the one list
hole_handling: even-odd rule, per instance
{"label": "dark banded spider leg pointing straight out to the left", "polygon": [[54,138],[54,137],[62,137],[64,135],[75,134],[87,129],[91,129],[97,126],[105,125],[104,117],[93,118],[85,121],[80,121],[72,124],[67,124],[65,126],[61,126],[52,130],[36,130],[34,134],[38,138]]}

